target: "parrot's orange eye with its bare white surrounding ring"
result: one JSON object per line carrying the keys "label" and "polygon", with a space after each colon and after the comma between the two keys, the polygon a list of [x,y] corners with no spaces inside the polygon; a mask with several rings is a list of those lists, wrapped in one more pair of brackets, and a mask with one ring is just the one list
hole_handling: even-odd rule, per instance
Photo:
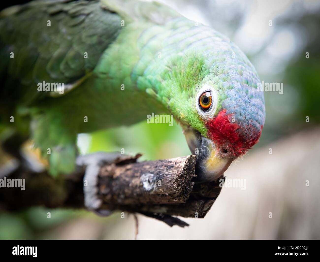
{"label": "parrot's orange eye with its bare white surrounding ring", "polygon": [[196,110],[204,119],[214,117],[218,105],[217,91],[210,85],[204,84],[196,96]]}

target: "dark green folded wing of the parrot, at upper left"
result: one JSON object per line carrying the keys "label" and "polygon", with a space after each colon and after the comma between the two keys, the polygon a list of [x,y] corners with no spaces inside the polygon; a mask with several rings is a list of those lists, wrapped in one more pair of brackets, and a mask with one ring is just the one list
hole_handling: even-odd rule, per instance
{"label": "dark green folded wing of the parrot, at upper left", "polygon": [[33,102],[52,95],[37,91],[43,81],[76,86],[120,30],[120,16],[99,1],[33,1],[5,9],[0,13],[2,97]]}

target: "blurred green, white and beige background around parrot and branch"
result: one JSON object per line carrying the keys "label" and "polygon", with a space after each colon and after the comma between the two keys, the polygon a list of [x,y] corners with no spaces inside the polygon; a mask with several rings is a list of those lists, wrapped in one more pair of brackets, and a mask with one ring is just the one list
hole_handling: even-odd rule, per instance
{"label": "blurred green, white and beige background around parrot and branch", "polygon": [[[245,179],[246,189],[223,188],[205,218],[182,218],[188,228],[138,215],[137,239],[320,239],[320,1],[158,2],[228,36],[260,80],[284,83],[284,92],[265,92],[260,143],[225,173]],[[176,123],[143,121],[80,134],[78,146],[83,154],[124,148],[127,154],[143,153],[142,160],[190,154]],[[0,214],[0,239],[134,238],[134,217],[121,218],[120,212],[101,218],[35,207]]]}

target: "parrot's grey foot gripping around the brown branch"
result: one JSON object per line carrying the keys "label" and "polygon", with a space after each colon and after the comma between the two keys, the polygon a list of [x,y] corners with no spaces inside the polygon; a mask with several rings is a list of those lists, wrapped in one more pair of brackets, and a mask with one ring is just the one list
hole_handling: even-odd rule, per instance
{"label": "parrot's grey foot gripping around the brown branch", "polygon": [[109,216],[112,212],[100,209],[102,200],[98,198],[98,175],[101,166],[113,163],[117,158],[122,158],[120,152],[97,152],[77,157],[77,166],[86,166],[84,173],[84,205],[88,210],[94,211],[99,216]]}

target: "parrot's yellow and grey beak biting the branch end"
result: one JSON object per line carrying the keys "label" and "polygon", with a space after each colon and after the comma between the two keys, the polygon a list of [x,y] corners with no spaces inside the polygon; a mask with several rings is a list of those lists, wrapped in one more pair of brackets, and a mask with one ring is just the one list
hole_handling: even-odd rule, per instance
{"label": "parrot's yellow and grey beak biting the branch end", "polygon": [[232,163],[231,158],[218,156],[212,140],[194,129],[184,131],[190,151],[197,154],[195,174],[197,182],[210,182],[219,178]]}

